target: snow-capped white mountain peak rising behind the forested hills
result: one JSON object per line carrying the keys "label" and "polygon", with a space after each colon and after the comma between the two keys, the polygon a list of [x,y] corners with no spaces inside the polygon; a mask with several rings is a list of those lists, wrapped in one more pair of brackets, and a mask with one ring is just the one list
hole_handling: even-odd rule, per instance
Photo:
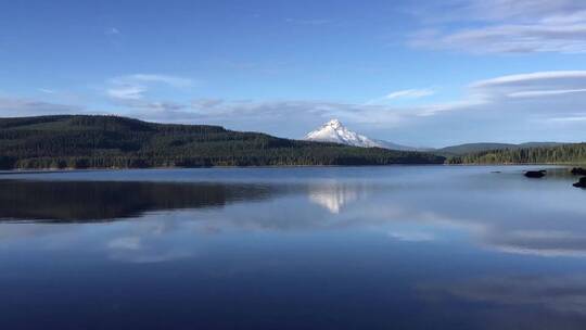
{"label": "snow-capped white mountain peak rising behind the forested hills", "polygon": [[331,119],[330,122],[323,124],[319,129],[309,132],[307,136],[305,136],[305,140],[318,142],[334,142],[364,148],[379,147],[392,150],[418,150],[417,148],[412,147],[400,145],[383,140],[369,139],[362,135],[347,129],[337,119]]}

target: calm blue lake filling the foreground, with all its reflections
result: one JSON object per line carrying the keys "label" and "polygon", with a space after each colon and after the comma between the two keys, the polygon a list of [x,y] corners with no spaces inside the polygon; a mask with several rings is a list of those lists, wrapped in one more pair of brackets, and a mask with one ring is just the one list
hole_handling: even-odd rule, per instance
{"label": "calm blue lake filling the foreground, with all its reflections", "polygon": [[3,174],[0,329],[586,329],[586,190],[527,168]]}

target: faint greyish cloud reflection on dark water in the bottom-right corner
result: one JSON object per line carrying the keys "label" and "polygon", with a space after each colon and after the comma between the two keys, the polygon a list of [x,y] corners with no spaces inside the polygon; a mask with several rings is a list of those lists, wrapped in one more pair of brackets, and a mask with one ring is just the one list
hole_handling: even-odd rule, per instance
{"label": "faint greyish cloud reflection on dark water in the bottom-right corner", "polygon": [[455,318],[469,313],[477,329],[581,329],[586,321],[585,275],[480,276],[420,284],[418,291],[430,307]]}

